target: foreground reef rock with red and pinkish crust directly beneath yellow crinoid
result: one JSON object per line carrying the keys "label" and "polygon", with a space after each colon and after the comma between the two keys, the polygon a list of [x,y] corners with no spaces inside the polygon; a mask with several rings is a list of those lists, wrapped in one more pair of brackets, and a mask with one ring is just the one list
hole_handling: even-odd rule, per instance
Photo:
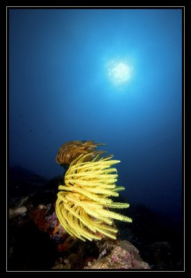
{"label": "foreground reef rock with red and pinkish crust directly beneath yellow crinoid", "polygon": [[10,219],[8,270],[149,269],[128,240],[74,238],[54,204],[33,206],[33,199],[25,202],[25,214]]}

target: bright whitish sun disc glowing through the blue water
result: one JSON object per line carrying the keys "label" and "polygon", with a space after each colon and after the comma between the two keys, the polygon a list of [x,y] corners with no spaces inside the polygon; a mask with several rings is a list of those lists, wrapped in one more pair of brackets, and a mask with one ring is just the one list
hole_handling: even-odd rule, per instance
{"label": "bright whitish sun disc glowing through the blue water", "polygon": [[126,61],[114,59],[106,67],[110,80],[116,85],[127,83],[131,78],[131,67]]}

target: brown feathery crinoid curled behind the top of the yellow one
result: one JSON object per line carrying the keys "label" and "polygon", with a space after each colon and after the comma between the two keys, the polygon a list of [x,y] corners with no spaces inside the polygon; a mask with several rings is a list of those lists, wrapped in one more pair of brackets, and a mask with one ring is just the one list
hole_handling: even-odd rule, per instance
{"label": "brown feathery crinoid curled behind the top of the yellow one", "polygon": [[[58,149],[56,156],[56,163],[60,165],[66,165],[72,163],[81,154],[89,154],[94,152],[94,149],[99,145],[105,145],[100,143],[94,143],[94,141],[69,141],[63,144]],[[103,154],[103,151],[94,152],[93,155]]]}

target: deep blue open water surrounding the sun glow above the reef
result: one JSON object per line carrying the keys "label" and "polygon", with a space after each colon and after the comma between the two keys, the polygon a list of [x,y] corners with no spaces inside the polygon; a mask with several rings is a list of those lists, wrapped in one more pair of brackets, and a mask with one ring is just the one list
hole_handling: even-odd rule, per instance
{"label": "deep blue open water surrounding the sun glow above the reef", "polygon": [[[105,142],[126,202],[181,215],[180,9],[10,9],[10,166],[63,174],[68,140]],[[126,58],[121,88],[106,63]]]}

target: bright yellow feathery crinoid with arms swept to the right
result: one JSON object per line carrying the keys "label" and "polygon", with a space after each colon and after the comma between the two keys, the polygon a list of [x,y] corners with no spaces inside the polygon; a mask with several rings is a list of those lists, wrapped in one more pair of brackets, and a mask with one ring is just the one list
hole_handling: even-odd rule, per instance
{"label": "bright yellow feathery crinoid with arms swept to the right", "polygon": [[115,239],[117,229],[113,227],[113,219],[132,222],[131,218],[108,209],[129,206],[110,199],[124,190],[115,184],[117,170],[111,166],[120,161],[112,160],[112,157],[91,152],[81,154],[69,165],[65,185],[58,187],[56,214],[71,236],[84,241],[86,238],[100,240],[103,235]]}

